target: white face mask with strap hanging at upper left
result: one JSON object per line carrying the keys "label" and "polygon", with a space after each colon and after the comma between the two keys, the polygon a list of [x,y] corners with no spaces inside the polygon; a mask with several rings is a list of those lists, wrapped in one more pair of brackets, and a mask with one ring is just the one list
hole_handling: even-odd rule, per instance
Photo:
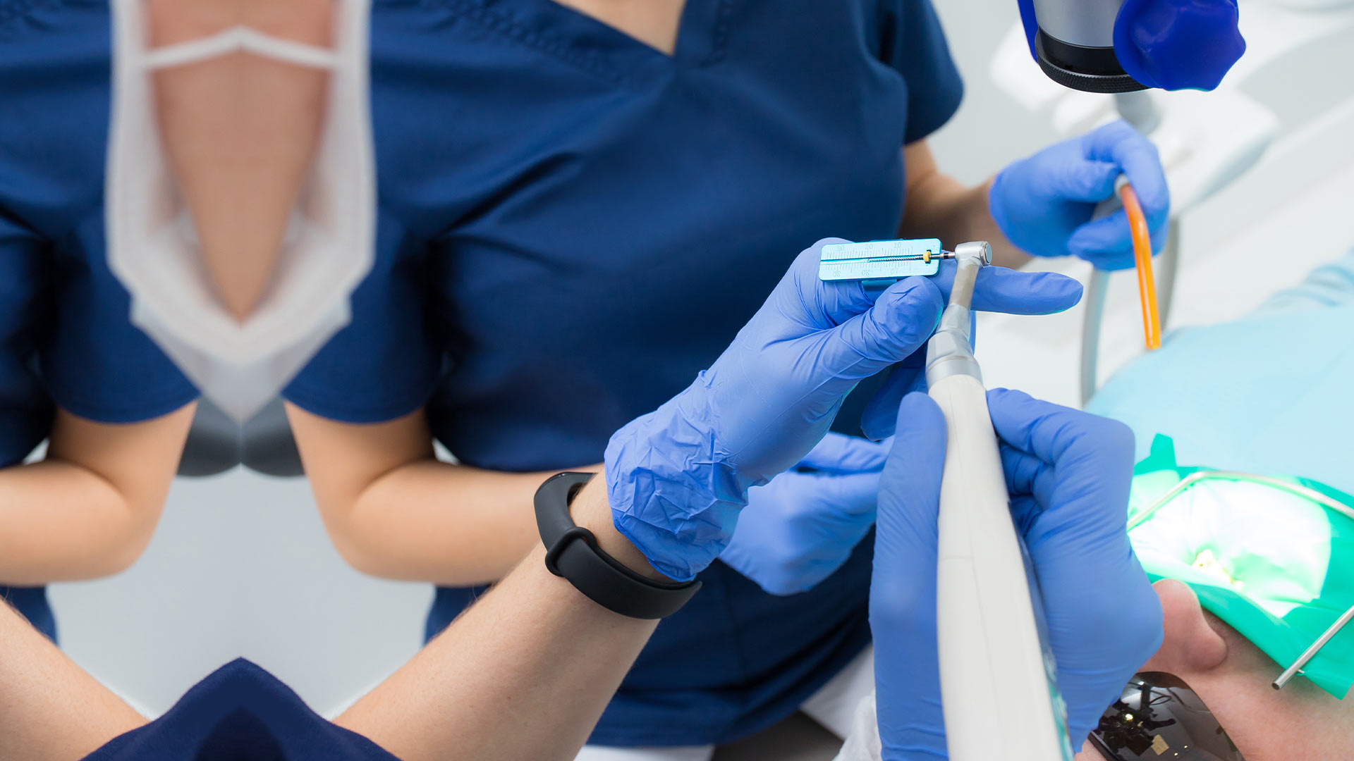
{"label": "white face mask with strap hanging at upper left", "polygon": [[[242,26],[148,50],[144,1],[114,0],[108,264],[131,292],[131,321],[242,422],[348,324],[348,299],[371,269],[376,184],[367,89],[370,0],[336,1],[332,50]],[[152,79],[157,69],[236,51],[330,73],[314,165],[268,288],[244,324],[230,316],[207,275],[161,146]]]}

